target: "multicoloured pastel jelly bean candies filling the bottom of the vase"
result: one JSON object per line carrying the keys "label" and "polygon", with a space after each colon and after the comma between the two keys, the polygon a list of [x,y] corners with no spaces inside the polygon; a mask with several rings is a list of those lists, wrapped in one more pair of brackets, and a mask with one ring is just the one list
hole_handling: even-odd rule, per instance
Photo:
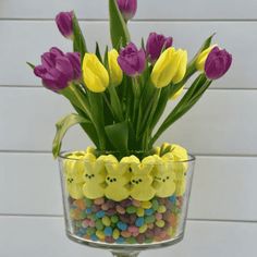
{"label": "multicoloured pastel jelly bean candies filling the bottom of the vase", "polygon": [[72,233],[85,241],[108,244],[150,244],[176,236],[182,196],[139,201],[69,197]]}

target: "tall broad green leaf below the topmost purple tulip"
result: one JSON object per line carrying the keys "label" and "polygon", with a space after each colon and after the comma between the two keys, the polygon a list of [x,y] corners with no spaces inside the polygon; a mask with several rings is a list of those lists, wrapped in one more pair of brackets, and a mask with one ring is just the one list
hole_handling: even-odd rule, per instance
{"label": "tall broad green leaf below the topmost purple tulip", "polygon": [[119,10],[117,0],[109,0],[110,34],[113,48],[119,49],[120,44],[125,46],[131,41],[125,21]]}

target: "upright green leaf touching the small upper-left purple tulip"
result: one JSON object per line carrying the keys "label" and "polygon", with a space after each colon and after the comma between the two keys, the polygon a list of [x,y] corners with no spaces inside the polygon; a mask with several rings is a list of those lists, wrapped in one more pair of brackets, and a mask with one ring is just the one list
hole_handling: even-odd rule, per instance
{"label": "upright green leaf touching the small upper-left purple tulip", "polygon": [[87,52],[86,41],[82,34],[82,29],[79,27],[79,24],[77,22],[76,15],[73,16],[73,51],[81,53],[81,60],[83,61],[83,58],[85,53]]}

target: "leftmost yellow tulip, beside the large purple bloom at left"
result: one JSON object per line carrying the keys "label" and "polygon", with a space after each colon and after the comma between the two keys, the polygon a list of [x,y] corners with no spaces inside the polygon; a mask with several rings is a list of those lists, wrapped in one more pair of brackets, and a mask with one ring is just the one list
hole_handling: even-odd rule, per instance
{"label": "leftmost yellow tulip, beside the large purple bloom at left", "polygon": [[83,79],[90,91],[102,93],[109,86],[109,74],[94,53],[86,53],[83,60]]}

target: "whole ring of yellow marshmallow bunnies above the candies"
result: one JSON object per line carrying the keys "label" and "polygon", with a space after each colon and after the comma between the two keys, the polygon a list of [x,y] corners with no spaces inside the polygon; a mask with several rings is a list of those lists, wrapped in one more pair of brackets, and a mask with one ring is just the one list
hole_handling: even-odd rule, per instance
{"label": "whole ring of yellow marshmallow bunnies above the candies", "polygon": [[124,157],[121,161],[112,156],[96,158],[94,149],[73,152],[64,163],[66,189],[74,199],[87,197],[96,199],[106,196],[120,201],[132,197],[149,200],[155,196],[182,196],[186,187],[184,148],[172,145],[172,150],[162,157],[157,154],[142,161],[135,156]]}

